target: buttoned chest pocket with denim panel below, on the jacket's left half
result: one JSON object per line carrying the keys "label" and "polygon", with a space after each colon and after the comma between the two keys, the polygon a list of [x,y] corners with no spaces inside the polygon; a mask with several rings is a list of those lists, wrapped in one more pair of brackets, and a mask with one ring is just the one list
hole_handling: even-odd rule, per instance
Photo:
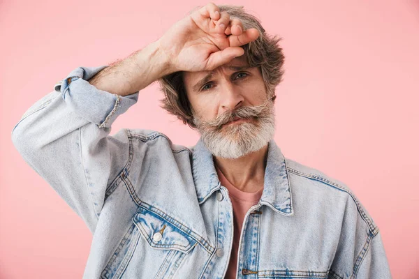
{"label": "buttoned chest pocket with denim panel below, on the jacket's left half", "polygon": [[168,220],[140,207],[101,278],[173,278],[197,241]]}

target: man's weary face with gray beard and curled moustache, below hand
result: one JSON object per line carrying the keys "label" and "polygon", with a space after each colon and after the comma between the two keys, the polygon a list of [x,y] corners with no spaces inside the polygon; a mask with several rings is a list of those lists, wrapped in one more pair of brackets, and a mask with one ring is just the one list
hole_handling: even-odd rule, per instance
{"label": "man's weary face with gray beard and curled moustache, below hand", "polygon": [[274,136],[274,109],[259,68],[239,56],[213,71],[184,72],[193,122],[212,154],[239,158]]}

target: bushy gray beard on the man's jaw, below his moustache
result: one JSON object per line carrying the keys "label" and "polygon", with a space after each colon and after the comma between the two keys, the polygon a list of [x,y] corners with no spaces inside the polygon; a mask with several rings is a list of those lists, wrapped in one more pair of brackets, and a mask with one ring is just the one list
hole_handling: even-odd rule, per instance
{"label": "bushy gray beard on the man's jaw, below his moustache", "polygon": [[256,123],[244,122],[225,126],[221,130],[197,126],[203,143],[219,158],[237,159],[258,151],[274,138],[275,115],[273,104],[270,112],[261,114]]}

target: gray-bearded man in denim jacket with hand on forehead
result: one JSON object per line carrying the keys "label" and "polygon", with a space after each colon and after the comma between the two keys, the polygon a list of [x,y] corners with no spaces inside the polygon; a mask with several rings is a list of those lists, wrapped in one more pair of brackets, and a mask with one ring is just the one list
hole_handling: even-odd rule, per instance
{"label": "gray-bearded man in denim jacket with hand on forehead", "polygon": [[[122,61],[73,70],[22,116],[15,146],[94,234],[84,278],[391,278],[351,190],[273,140],[278,41],[209,3]],[[193,148],[109,135],[156,80],[200,133]]]}

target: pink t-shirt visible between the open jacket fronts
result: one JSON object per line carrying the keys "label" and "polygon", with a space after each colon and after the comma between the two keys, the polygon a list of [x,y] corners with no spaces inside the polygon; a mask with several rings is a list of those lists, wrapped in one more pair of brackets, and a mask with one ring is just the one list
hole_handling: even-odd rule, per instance
{"label": "pink t-shirt visible between the open jacket fronts", "polygon": [[263,188],[260,188],[256,193],[243,192],[226,179],[226,176],[215,167],[216,173],[219,176],[221,185],[226,187],[228,195],[230,196],[231,203],[233,204],[233,223],[234,223],[234,237],[233,237],[233,250],[231,251],[230,262],[226,273],[226,279],[235,279],[237,273],[237,252],[239,250],[240,234],[242,233],[242,225],[244,216],[251,206],[259,202],[262,197]]}

